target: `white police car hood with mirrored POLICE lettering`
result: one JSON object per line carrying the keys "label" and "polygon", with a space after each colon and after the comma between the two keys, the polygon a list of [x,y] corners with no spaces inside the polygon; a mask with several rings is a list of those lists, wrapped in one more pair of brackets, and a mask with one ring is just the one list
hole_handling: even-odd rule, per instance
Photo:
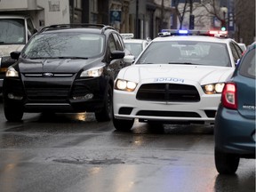
{"label": "white police car hood with mirrored POLICE lettering", "polygon": [[199,66],[199,65],[173,65],[173,64],[143,64],[123,68],[117,78],[132,82],[177,82],[191,84],[212,84],[226,82],[233,74],[235,68]]}

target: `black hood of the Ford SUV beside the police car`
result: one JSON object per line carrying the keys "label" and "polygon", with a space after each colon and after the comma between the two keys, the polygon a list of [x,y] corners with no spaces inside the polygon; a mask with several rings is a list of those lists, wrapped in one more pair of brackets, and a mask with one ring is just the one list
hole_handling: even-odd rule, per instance
{"label": "black hood of the Ford SUV beside the police car", "polygon": [[[77,73],[82,69],[92,68],[91,64],[99,62],[99,59],[47,59],[47,60],[24,60],[20,59],[20,73]],[[95,67],[93,65],[93,67]]]}

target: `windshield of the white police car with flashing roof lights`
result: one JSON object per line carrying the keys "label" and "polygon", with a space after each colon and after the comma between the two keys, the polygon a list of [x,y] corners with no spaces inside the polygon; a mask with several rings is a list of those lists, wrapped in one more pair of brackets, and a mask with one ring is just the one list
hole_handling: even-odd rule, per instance
{"label": "windshield of the white police car with flashing roof lights", "polygon": [[153,42],[135,64],[231,67],[226,44],[199,41]]}

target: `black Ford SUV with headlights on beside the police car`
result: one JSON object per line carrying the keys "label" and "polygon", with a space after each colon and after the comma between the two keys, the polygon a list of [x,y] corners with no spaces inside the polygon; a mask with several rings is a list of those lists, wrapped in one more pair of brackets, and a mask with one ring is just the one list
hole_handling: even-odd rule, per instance
{"label": "black Ford SUV with headlights on beside the police car", "polygon": [[8,121],[20,121],[24,112],[85,111],[108,121],[115,77],[132,63],[115,28],[98,24],[43,28],[11,57],[17,62],[3,84]]}

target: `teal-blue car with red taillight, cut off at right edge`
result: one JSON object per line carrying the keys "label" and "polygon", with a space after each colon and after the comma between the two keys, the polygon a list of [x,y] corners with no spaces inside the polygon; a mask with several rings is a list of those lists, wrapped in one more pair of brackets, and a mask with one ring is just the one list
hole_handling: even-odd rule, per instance
{"label": "teal-blue car with red taillight, cut off at right edge", "polygon": [[255,158],[255,46],[245,52],[221,95],[214,156],[216,169],[223,174],[235,173],[240,158]]}

